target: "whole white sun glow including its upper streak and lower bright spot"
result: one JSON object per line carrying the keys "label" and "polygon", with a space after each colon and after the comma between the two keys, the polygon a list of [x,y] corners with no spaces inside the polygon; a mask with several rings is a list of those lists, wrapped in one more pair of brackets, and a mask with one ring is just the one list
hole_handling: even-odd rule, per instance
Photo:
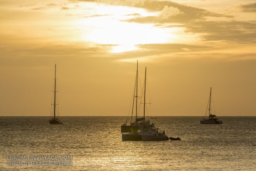
{"label": "whole white sun glow including its upper streak and lower bright spot", "polygon": [[[92,6],[102,16],[84,17],[77,20],[80,29],[86,30],[81,35],[82,41],[95,44],[111,44],[110,52],[120,53],[138,49],[138,44],[170,43],[177,39],[172,29],[154,27],[154,24],[131,23],[125,21],[129,14],[140,13],[143,16],[157,15],[142,9],[120,6]],[[99,14],[99,12],[98,12]]]}

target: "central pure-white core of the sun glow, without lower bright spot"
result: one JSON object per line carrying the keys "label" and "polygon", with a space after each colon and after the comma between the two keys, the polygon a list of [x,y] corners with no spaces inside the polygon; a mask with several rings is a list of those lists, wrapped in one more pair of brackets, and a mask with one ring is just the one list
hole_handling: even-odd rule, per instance
{"label": "central pure-white core of the sun glow, without lower bright spot", "polygon": [[167,34],[162,28],[153,27],[152,24],[122,22],[111,17],[90,18],[84,22],[92,24],[94,28],[89,33],[85,33],[82,40],[94,43],[119,45],[166,43],[174,36]]}

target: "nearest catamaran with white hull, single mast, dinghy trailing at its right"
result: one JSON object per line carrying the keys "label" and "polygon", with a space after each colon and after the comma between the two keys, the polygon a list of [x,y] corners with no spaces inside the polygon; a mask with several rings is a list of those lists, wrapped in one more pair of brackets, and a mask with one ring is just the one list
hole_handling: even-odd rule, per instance
{"label": "nearest catamaran with white hull, single mast, dinghy trailing at its right", "polygon": [[[146,73],[147,67],[145,68],[145,83],[144,83],[144,110],[143,118],[145,118],[145,101],[146,101]],[[166,141],[169,137],[166,136],[165,131],[161,132],[159,128],[146,128],[145,119],[143,120],[143,130],[129,133],[122,133],[123,141]]]}

